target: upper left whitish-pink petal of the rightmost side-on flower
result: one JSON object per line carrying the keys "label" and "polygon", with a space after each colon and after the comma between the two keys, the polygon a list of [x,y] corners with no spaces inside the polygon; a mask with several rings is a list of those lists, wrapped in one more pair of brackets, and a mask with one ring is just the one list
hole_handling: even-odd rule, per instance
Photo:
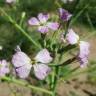
{"label": "upper left whitish-pink petal of the rightmost side-on flower", "polygon": [[72,29],[68,29],[66,40],[68,41],[69,44],[73,45],[78,43],[79,36]]}

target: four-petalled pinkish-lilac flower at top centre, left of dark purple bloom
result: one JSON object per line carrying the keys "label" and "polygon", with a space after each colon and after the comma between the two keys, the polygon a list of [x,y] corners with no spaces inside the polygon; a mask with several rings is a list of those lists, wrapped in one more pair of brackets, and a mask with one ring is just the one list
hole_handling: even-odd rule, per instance
{"label": "four-petalled pinkish-lilac flower at top centre, left of dark purple bloom", "polygon": [[37,18],[31,17],[28,20],[28,24],[31,26],[38,26],[38,31],[41,33],[46,33],[49,29],[56,31],[59,27],[57,22],[48,22],[49,15],[39,13]]}

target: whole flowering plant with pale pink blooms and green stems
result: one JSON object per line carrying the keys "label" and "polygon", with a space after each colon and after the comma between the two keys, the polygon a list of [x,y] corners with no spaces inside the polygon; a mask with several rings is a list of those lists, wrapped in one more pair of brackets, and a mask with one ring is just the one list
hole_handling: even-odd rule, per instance
{"label": "whole flowering plant with pale pink blooms and green stems", "polygon": [[[66,1],[66,0],[65,0]],[[68,0],[68,2],[72,0]],[[16,0],[6,0],[9,5],[16,4]],[[86,7],[85,7],[86,8]],[[27,28],[23,28],[23,21],[26,13],[23,12],[20,24],[17,23],[5,10],[0,7],[3,18],[7,18],[18,32],[21,32],[35,46],[33,54],[29,55],[22,49],[22,44],[17,44],[14,48],[10,60],[0,60],[0,78],[8,82],[14,82],[41,91],[51,96],[56,96],[57,83],[66,79],[61,74],[66,66],[76,63],[75,71],[84,68],[88,64],[90,44],[80,39],[77,32],[72,28],[73,15],[67,10],[57,8],[57,13],[39,13],[37,16],[26,18]],[[56,19],[54,19],[56,18]],[[35,30],[32,33],[26,32],[27,29]],[[34,34],[39,34],[40,39],[33,39]],[[37,37],[35,37],[37,38]],[[3,50],[3,49],[2,49]],[[0,50],[0,51],[2,51]],[[72,53],[71,57],[65,60],[65,53]],[[70,70],[72,72],[72,70]],[[67,75],[70,75],[71,73]],[[13,74],[14,73],[14,74]],[[73,71],[74,73],[74,71]],[[73,74],[72,73],[72,74]],[[68,78],[68,76],[66,76]],[[27,79],[35,78],[40,82],[45,82],[48,89],[30,84]],[[22,80],[26,80],[25,82]],[[44,84],[45,85],[45,84]]]}

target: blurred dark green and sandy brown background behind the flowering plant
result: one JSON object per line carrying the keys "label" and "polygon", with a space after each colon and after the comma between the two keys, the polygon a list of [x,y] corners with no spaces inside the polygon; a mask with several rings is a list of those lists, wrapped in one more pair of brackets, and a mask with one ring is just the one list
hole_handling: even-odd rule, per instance
{"label": "blurred dark green and sandy brown background behind the flowering plant", "polygon": [[[91,52],[89,67],[87,71],[78,72],[74,78],[69,78],[58,83],[57,96],[96,96],[96,0],[17,0],[16,4],[7,4],[5,0],[0,0],[0,7],[18,23],[22,13],[26,13],[22,27],[35,39],[40,38],[40,34],[28,27],[27,20],[38,13],[56,14],[59,7],[68,10],[73,14],[71,27],[77,32],[82,40],[89,41]],[[0,59],[10,60],[16,45],[21,45],[22,50],[31,55],[36,48],[22,36],[18,30],[3,17],[0,12]],[[33,51],[32,51],[33,50]],[[71,66],[74,67],[74,66]],[[69,71],[69,67],[64,69],[64,74]],[[63,74],[63,75],[64,75]],[[30,79],[29,79],[30,80]],[[38,85],[36,80],[31,80],[32,84]],[[0,96],[43,96],[44,94],[34,94],[30,89],[15,84],[0,83]],[[44,96],[47,96],[46,94]]]}

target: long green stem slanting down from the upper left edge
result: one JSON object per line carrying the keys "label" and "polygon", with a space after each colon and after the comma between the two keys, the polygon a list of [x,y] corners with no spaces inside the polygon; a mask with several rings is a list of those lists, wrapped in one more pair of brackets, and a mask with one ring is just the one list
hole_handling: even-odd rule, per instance
{"label": "long green stem slanting down from the upper left edge", "polygon": [[34,44],[36,47],[38,47],[39,49],[41,49],[41,46],[40,46],[37,42],[35,42],[35,41],[32,39],[32,37],[30,37],[30,35],[29,35],[21,26],[19,26],[19,25],[11,18],[11,16],[9,16],[2,8],[0,8],[0,10],[1,10],[2,13],[8,18],[8,20],[9,20],[18,30],[20,30],[20,32],[21,32],[24,36],[26,36],[26,37],[28,38],[28,40],[29,40],[32,44]]}

